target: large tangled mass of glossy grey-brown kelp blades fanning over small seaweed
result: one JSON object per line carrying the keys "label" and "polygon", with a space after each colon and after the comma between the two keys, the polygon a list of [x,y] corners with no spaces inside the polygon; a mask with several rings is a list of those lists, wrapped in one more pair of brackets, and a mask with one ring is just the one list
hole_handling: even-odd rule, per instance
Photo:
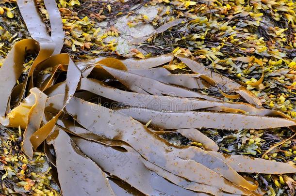
{"label": "large tangled mass of glossy grey-brown kelp blades fanning over small seaweed", "polygon": [[[0,68],[0,123],[23,131],[22,151],[29,159],[37,148],[43,149],[56,167],[62,195],[263,195],[266,190],[242,173],[296,173],[292,162],[263,159],[267,152],[263,158],[220,152],[215,141],[200,132],[280,127],[294,131],[293,118],[263,108],[248,90],[261,85],[264,71],[246,88],[186,57],[184,51],[142,60],[99,57],[74,63],[60,53],[65,32],[56,2],[44,4],[50,35],[35,2],[17,0],[32,39],[16,42]],[[182,21],[170,21],[132,42],[142,43]],[[19,82],[29,55],[35,56],[32,66]],[[233,61],[264,70],[263,60],[255,57]],[[186,72],[172,71],[178,63],[188,68]],[[227,101],[231,99],[241,102]],[[197,145],[169,143],[163,136],[169,133]],[[34,182],[24,181],[30,191]]]}

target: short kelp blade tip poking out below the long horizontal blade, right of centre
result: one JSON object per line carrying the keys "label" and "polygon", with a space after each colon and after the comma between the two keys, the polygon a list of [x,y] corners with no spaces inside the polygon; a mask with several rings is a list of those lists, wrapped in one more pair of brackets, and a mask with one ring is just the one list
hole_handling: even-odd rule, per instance
{"label": "short kelp blade tip poking out below the long horizontal blade, right of centre", "polygon": [[209,137],[205,136],[203,133],[198,131],[197,129],[177,129],[177,132],[182,134],[183,136],[187,137],[188,139],[191,139],[195,142],[202,143],[202,146],[209,151],[218,151],[219,146]]}

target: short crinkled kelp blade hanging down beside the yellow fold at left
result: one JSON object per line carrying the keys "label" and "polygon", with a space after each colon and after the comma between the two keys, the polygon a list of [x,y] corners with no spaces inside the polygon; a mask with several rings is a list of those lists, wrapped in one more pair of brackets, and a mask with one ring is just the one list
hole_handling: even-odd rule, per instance
{"label": "short crinkled kelp blade hanging down beside the yellow fold at left", "polygon": [[35,131],[37,131],[40,128],[40,124],[42,122],[42,118],[44,115],[47,95],[41,92],[40,90],[38,90],[37,88],[31,89],[30,92],[35,96],[35,103],[31,107],[28,114],[28,121],[27,121],[26,130],[24,132],[24,140],[23,140],[24,143],[22,146],[22,150],[30,159],[32,159],[33,146],[31,144],[30,137],[33,135]]}

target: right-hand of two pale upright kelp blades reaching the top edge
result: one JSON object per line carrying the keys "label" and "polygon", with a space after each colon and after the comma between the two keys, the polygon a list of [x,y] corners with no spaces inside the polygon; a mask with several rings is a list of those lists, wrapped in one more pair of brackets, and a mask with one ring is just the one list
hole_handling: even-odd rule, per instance
{"label": "right-hand of two pale upright kelp blades reaching the top edge", "polygon": [[44,0],[50,22],[50,37],[55,43],[53,55],[59,54],[64,45],[65,31],[63,31],[63,23],[60,11],[55,0]]}

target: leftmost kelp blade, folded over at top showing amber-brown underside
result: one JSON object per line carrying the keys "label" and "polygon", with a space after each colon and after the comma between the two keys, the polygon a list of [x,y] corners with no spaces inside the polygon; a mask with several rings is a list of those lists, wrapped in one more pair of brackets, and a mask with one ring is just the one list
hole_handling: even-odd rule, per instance
{"label": "leftmost kelp blade, folded over at top showing amber-brown underside", "polygon": [[[27,53],[38,52],[39,45],[35,40],[24,39],[16,43],[6,56],[0,68],[0,123],[7,125],[5,116],[10,94],[16,84],[16,80],[22,73],[23,63]],[[9,112],[9,111],[8,111]]]}

